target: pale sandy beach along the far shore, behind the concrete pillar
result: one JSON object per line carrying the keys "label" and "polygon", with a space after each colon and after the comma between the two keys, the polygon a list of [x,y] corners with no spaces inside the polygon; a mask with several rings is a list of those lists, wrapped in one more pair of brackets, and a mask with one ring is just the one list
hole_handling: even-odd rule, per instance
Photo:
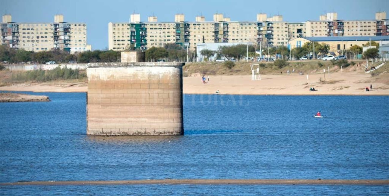
{"label": "pale sandy beach along the far shore, behind the concrete pillar", "polygon": [[[184,77],[185,94],[278,94],[278,95],[389,95],[389,84],[363,72],[334,72],[324,74],[261,75],[261,80],[251,80],[251,75],[210,75],[203,84],[202,77]],[[386,84],[385,84],[386,83]],[[372,85],[371,91],[365,88]],[[309,91],[314,87],[317,91]],[[2,86],[0,91],[34,92],[86,92],[86,82],[76,83],[23,83]]]}

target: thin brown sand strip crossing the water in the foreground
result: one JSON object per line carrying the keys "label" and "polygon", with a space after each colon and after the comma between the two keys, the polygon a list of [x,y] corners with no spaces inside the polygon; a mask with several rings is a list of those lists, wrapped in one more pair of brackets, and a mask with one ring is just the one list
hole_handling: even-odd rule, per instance
{"label": "thin brown sand strip crossing the water in the foreground", "polygon": [[6,182],[0,186],[14,185],[389,185],[389,180],[310,180],[310,179],[164,179],[164,180],[86,180],[86,181],[31,181]]}

